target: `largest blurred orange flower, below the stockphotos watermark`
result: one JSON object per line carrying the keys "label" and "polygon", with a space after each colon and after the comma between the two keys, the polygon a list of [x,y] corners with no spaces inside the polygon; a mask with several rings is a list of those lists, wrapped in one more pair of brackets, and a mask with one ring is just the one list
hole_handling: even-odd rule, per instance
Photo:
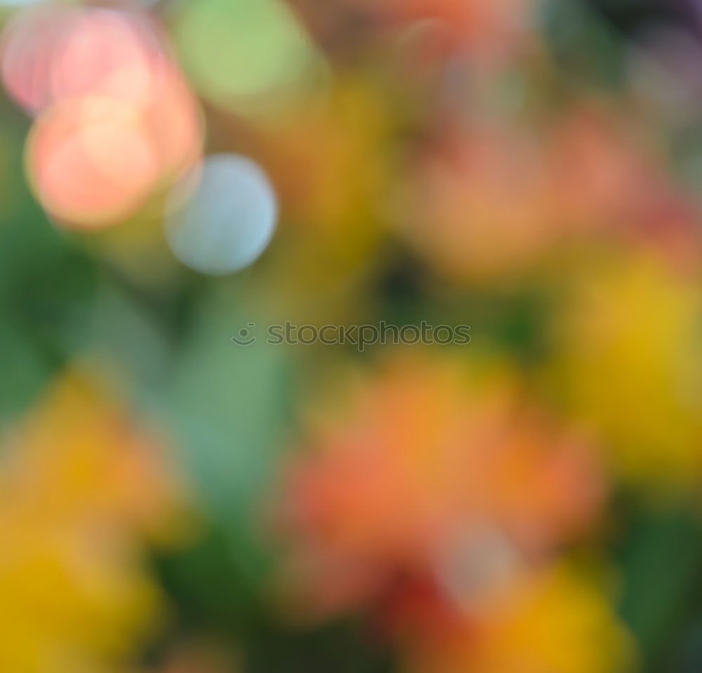
{"label": "largest blurred orange flower, below the stockphotos watermark", "polygon": [[458,561],[479,602],[597,512],[603,484],[583,440],[509,378],[456,367],[392,363],[294,463],[292,571],[320,610],[378,598],[404,575],[451,584]]}

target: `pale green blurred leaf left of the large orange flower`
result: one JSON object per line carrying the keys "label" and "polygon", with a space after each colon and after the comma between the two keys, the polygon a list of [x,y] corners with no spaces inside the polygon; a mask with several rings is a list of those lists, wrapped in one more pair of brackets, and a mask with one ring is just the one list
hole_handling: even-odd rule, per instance
{"label": "pale green blurred leaf left of the large orange flower", "polygon": [[[162,398],[202,502],[242,543],[258,537],[251,517],[260,512],[284,445],[289,397],[288,352],[265,343],[263,315],[236,286],[220,286],[195,316]],[[258,341],[234,344],[251,322]],[[251,571],[260,572],[257,559]]]}

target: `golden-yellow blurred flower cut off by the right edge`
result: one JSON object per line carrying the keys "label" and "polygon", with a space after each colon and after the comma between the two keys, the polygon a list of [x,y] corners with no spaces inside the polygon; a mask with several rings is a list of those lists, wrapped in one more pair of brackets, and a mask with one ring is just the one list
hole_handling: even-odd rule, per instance
{"label": "golden-yellow blurred flower cut off by the right edge", "polygon": [[643,251],[589,265],[557,318],[556,394],[628,479],[702,476],[701,317],[698,282]]}

